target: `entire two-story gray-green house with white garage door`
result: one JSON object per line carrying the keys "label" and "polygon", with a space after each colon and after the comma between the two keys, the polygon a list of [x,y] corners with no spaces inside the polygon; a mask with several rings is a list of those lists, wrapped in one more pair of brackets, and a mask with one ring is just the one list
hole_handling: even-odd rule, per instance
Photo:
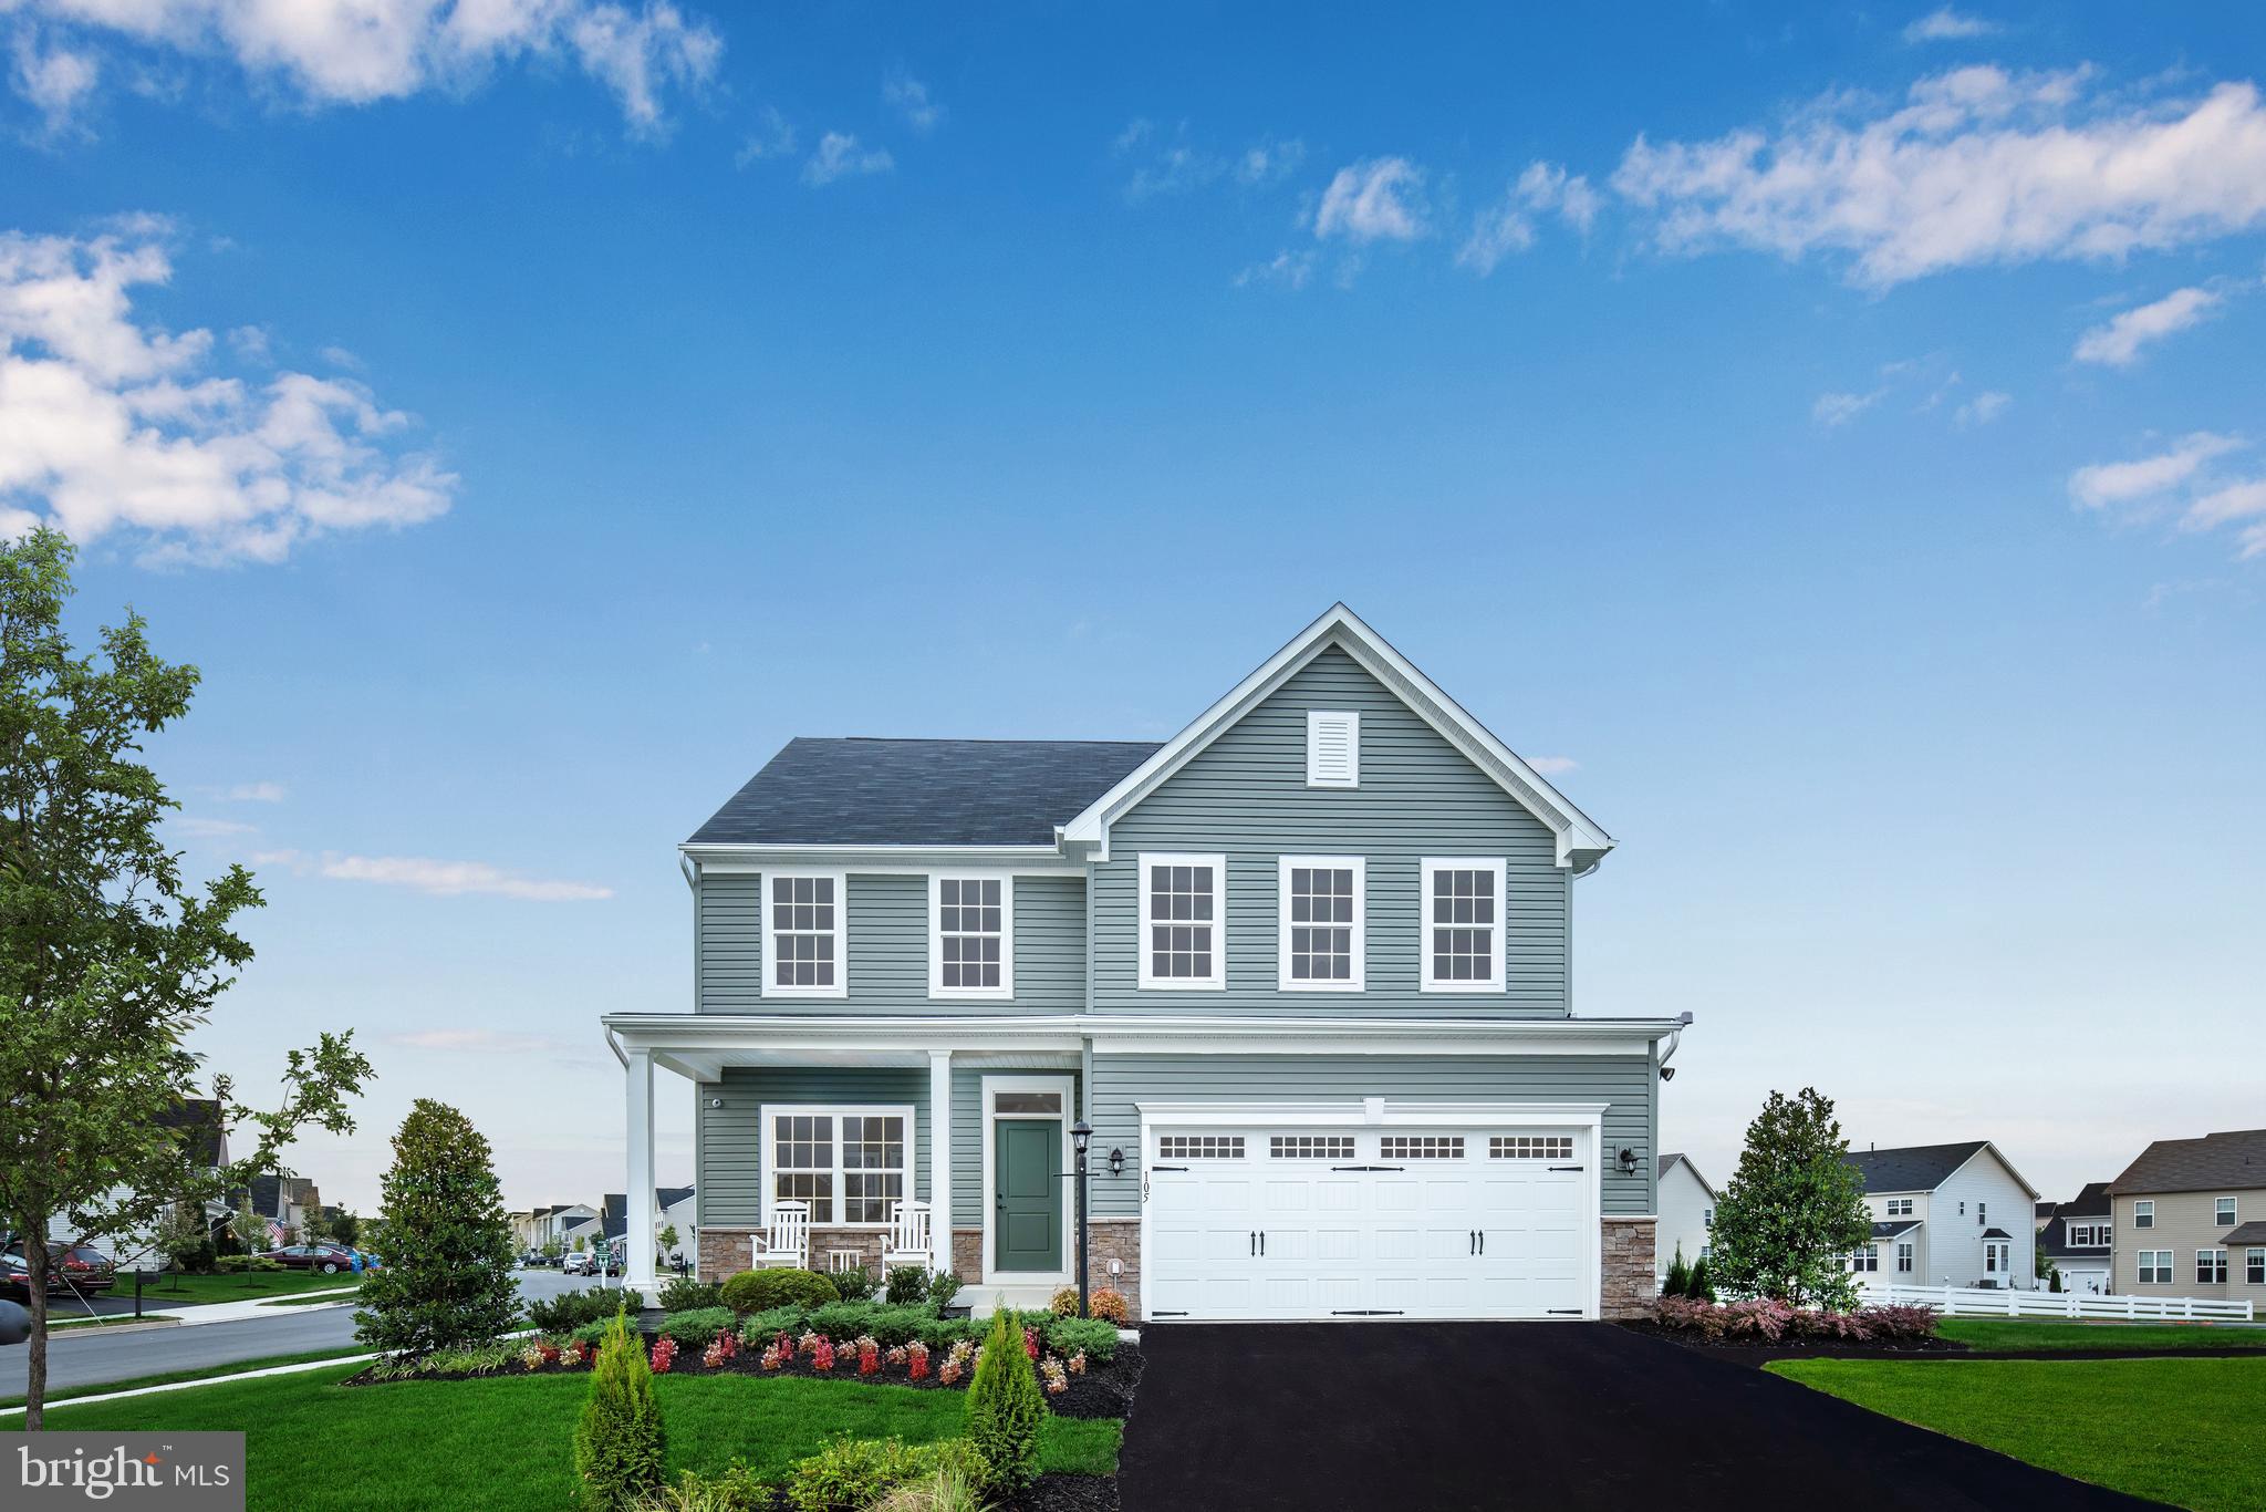
{"label": "entire two-story gray-green house with white garage door", "polygon": [[1611,846],[1344,605],[1162,744],[795,739],[680,846],[693,1011],[605,1018],[630,1190],[659,1065],[702,1276],[789,1199],[870,1265],[911,1199],[972,1299],[1042,1303],[1083,1120],[1138,1317],[1634,1315],[1690,1016],[1573,1013]]}

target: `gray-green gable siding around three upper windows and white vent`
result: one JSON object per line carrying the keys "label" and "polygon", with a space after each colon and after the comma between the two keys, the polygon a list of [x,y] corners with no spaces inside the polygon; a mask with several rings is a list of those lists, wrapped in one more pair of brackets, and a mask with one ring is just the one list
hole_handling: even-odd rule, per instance
{"label": "gray-green gable siding around three upper windows and white vent", "polygon": [[[1355,789],[1305,784],[1307,710],[1360,710]],[[1219,993],[1140,991],[1142,850],[1226,852],[1228,984]],[[1369,857],[1364,993],[1276,986],[1276,861]],[[1421,859],[1500,855],[1505,991],[1423,993]],[[1097,1013],[1387,1013],[1557,1018],[1568,1013],[1568,902],[1550,827],[1335,646],[1190,759],[1110,827],[1094,875]]]}

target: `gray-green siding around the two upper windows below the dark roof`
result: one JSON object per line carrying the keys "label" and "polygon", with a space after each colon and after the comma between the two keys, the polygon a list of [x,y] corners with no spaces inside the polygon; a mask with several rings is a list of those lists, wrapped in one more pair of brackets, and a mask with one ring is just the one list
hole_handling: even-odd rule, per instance
{"label": "gray-green siding around the two upper windows below the dark roof", "polygon": [[1079,1013],[1085,880],[1015,877],[1015,1000],[929,997],[929,880],[850,873],[850,995],[764,997],[764,880],[700,877],[693,943],[702,1013]]}

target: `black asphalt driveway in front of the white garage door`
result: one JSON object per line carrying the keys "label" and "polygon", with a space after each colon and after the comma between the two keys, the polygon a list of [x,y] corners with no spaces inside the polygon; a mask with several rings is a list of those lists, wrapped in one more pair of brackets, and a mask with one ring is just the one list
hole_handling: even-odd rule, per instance
{"label": "black asphalt driveway in front of the white garage door", "polygon": [[1609,1324],[1172,1324],[1142,1353],[1126,1512],[2150,1505]]}

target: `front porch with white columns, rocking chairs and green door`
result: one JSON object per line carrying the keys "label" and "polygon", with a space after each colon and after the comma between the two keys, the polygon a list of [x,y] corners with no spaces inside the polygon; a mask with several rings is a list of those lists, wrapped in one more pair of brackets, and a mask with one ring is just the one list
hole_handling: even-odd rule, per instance
{"label": "front porch with white columns, rocking chairs and green door", "polygon": [[[927,1265],[961,1276],[979,1308],[1045,1306],[1074,1285],[1065,1177],[1085,1074],[1067,1020],[625,1016],[607,1029],[628,1077],[632,1192],[653,1186],[653,1072],[693,1084],[702,1281],[752,1265],[777,1201],[809,1206],[804,1265],[879,1274],[895,1206],[920,1201]],[[625,1281],[650,1290],[641,1226],[630,1204]],[[1094,1285],[1110,1279],[1104,1249],[1097,1226]]]}

